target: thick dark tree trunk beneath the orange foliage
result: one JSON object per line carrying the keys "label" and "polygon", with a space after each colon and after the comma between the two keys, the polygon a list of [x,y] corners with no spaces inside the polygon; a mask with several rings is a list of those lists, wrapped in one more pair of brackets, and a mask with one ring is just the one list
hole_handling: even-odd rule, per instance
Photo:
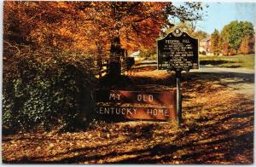
{"label": "thick dark tree trunk beneath the orange foliage", "polygon": [[108,74],[110,77],[119,76],[121,74],[120,55],[120,37],[113,37],[113,39],[111,40],[110,57],[108,64]]}

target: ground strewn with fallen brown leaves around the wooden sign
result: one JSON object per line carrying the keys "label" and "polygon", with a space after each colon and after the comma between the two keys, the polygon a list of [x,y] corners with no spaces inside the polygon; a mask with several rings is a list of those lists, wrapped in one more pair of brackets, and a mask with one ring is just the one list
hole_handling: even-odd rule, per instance
{"label": "ground strewn with fallen brown leaves around the wooden sign", "polygon": [[[174,89],[172,74],[154,72],[149,84],[147,72],[132,79],[142,89]],[[252,164],[253,99],[204,77],[183,77],[179,128],[174,122],[131,120],[73,133],[20,132],[3,136],[3,163]]]}

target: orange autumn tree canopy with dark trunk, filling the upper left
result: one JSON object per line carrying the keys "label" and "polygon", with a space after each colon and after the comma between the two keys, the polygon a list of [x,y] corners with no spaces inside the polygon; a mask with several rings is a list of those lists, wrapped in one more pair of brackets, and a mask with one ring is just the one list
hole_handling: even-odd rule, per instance
{"label": "orange autumn tree canopy with dark trunk, filling the upper left", "polygon": [[201,19],[201,3],[5,2],[4,39],[57,49],[110,51],[110,73],[120,73],[121,48],[150,48],[170,17]]}

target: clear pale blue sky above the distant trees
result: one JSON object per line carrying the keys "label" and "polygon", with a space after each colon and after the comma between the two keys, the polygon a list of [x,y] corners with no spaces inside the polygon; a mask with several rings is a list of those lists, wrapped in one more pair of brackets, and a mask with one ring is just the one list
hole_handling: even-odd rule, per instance
{"label": "clear pale blue sky above the distant trees", "polygon": [[215,29],[222,28],[232,20],[247,20],[256,26],[256,3],[207,3],[207,16],[197,22],[197,30],[211,34]]}

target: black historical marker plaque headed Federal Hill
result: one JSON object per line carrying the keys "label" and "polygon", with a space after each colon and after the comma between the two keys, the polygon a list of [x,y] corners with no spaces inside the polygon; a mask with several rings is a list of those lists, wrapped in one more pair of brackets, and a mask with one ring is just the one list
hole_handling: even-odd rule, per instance
{"label": "black historical marker plaque headed Federal Hill", "polygon": [[157,42],[158,69],[189,71],[198,69],[198,39],[175,29]]}

